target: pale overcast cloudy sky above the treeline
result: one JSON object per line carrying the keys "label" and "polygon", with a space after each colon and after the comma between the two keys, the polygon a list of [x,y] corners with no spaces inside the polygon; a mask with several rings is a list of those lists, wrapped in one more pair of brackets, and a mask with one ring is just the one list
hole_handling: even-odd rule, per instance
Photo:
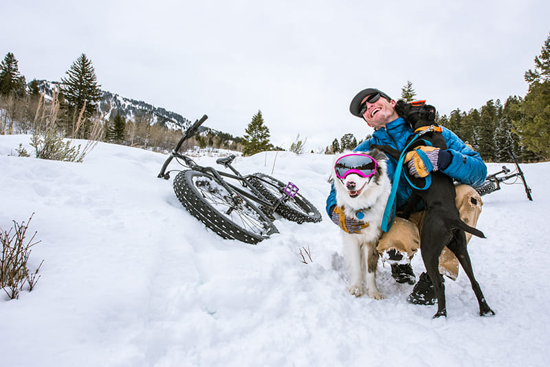
{"label": "pale overcast cloudy sky above the treeline", "polygon": [[272,143],[372,131],[349,113],[410,80],[441,114],[525,96],[550,2],[369,0],[2,1],[1,57],[58,81],[80,54],[102,89],[243,135],[261,110]]}

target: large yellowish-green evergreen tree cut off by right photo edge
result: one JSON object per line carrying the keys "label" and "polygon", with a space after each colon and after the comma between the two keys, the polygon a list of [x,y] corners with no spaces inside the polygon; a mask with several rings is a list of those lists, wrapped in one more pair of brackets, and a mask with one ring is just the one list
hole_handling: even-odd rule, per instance
{"label": "large yellowish-green evergreen tree cut off by right photo edge", "polygon": [[514,128],[527,151],[538,159],[550,159],[550,36],[540,56],[535,57],[535,69],[525,73],[525,81],[529,91],[520,104],[521,117],[514,120]]}

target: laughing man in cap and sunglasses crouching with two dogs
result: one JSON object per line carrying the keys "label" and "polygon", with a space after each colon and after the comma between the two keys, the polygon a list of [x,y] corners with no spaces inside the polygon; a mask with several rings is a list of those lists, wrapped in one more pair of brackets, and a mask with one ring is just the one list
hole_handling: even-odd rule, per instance
{"label": "laughing man in cap and sunglasses crouching with two dogs", "polygon": [[[367,88],[360,91],[351,100],[349,111],[352,115],[362,118],[375,131],[373,136],[359,144],[354,151],[369,151],[371,144],[389,145],[402,151],[405,148],[406,140],[412,135],[412,129],[405,120],[395,111],[395,100],[386,93],[375,88]],[[483,183],[487,176],[487,166],[483,163],[479,153],[476,153],[465,144],[452,131],[443,127],[443,137],[447,142],[447,149],[436,149],[427,151],[426,156],[430,159],[433,170],[441,170],[442,173],[452,177],[461,185],[456,186],[456,207],[459,208],[461,219],[474,227],[481,213],[481,197],[471,186],[478,186]],[[406,162],[404,170],[409,170],[411,175],[423,177],[418,170],[427,170],[426,165],[415,166],[415,159]],[[392,157],[388,158],[388,175],[393,179],[397,162]],[[425,173],[424,173],[425,174]],[[397,212],[404,207],[412,194],[412,188],[404,179],[399,180],[397,188]],[[336,208],[336,192],[331,188],[327,197],[327,213],[332,221],[339,225],[346,232],[358,232],[361,224],[358,220],[346,218],[340,221],[339,214],[334,212]],[[407,221],[395,217],[388,232],[380,238],[377,250],[384,258],[390,260],[392,276],[397,282],[408,282],[414,284],[415,275],[410,267],[410,259],[414,256],[419,246],[419,230],[423,221],[422,212],[412,214]],[[467,234],[467,241],[470,241],[471,234]],[[459,261],[454,254],[445,247],[439,258],[439,272],[453,280],[458,276]],[[408,302],[414,304],[434,304],[437,299],[430,277],[423,272],[412,293],[407,298]]]}

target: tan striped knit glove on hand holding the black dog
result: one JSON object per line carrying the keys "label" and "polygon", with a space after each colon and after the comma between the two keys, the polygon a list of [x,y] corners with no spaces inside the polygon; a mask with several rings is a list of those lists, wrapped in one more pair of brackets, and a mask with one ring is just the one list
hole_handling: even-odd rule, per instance
{"label": "tan striped knit glove on hand holding the black dog", "polygon": [[432,170],[443,170],[449,166],[452,155],[448,151],[433,146],[417,146],[414,151],[405,155],[410,175],[426,177]]}

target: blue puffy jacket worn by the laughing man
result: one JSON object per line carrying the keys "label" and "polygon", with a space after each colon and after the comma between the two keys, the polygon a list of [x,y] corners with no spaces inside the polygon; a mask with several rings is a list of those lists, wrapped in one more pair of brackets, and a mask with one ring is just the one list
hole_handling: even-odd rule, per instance
{"label": "blue puffy jacket worn by the laughing man", "polygon": [[[410,125],[403,118],[398,118],[386,124],[385,128],[377,129],[373,137],[359,144],[353,151],[369,151],[371,144],[389,145],[398,151],[403,151],[410,135],[412,135]],[[470,186],[481,185],[487,176],[487,166],[483,163],[481,155],[474,152],[455,133],[445,127],[443,127],[443,137],[447,142],[447,150],[452,154],[452,161],[441,172]],[[390,179],[393,179],[397,161],[389,157],[387,166],[388,175]],[[412,188],[404,178],[405,170],[406,165],[404,165],[403,172],[401,172],[401,179],[399,179],[399,187],[397,188],[397,210],[405,205],[410,194],[412,194]],[[336,192],[333,185],[329,197],[327,197],[327,213],[329,216],[334,206],[336,206]]]}

